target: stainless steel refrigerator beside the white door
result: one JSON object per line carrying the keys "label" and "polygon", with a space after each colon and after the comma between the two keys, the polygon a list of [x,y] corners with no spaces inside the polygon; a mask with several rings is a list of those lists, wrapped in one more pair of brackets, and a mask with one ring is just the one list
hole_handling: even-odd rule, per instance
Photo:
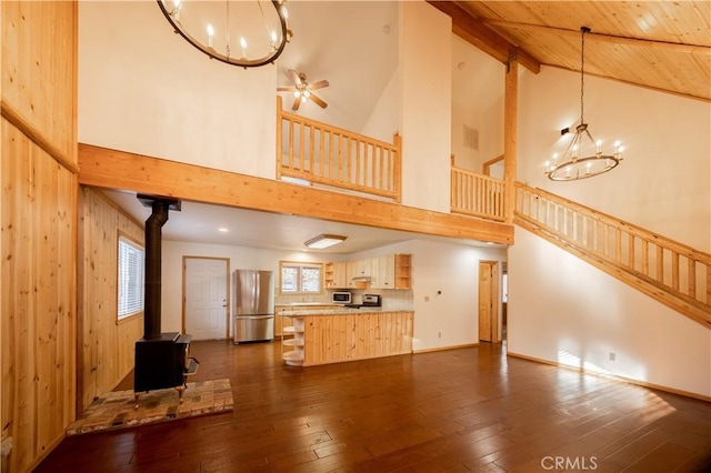
{"label": "stainless steel refrigerator beside the white door", "polygon": [[234,343],[273,340],[272,272],[234,270],[232,284]]}

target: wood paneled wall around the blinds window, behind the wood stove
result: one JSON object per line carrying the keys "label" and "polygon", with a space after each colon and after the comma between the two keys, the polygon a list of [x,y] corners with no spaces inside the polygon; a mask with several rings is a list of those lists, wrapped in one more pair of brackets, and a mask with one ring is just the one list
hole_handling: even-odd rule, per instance
{"label": "wood paneled wall around the blinds window, behind the wood stove", "polygon": [[97,190],[80,192],[79,405],[113,390],[133,368],[143,316],[117,323],[118,245],[122,234],[143,244],[143,227]]}

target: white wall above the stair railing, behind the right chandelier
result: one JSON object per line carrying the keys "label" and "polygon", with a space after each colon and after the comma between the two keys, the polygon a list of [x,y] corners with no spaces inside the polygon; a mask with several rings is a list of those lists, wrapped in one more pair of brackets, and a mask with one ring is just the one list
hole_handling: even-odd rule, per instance
{"label": "white wall above the stair railing, behind the right chandelier", "polygon": [[710,103],[585,77],[589,129],[603,150],[620,140],[623,161],[592,179],[552,182],[543,163],[564,145],[560,130],[580,121],[580,74],[543,67],[523,70],[519,84],[519,181],[711,252]]}

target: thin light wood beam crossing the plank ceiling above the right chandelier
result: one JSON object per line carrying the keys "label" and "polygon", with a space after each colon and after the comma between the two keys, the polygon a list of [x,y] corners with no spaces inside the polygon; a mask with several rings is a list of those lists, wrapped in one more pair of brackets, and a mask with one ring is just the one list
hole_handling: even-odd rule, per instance
{"label": "thin light wood beam crossing the plank ceiling above the right chandelier", "polygon": [[[482,20],[482,23],[487,26],[515,28],[519,30],[531,31],[531,32],[554,32],[554,33],[561,33],[561,34],[569,34],[571,37],[572,36],[580,37],[580,30],[569,30],[565,28],[547,27],[544,24],[519,23],[515,21],[507,21],[507,20]],[[678,42],[654,41],[654,40],[640,39],[640,38],[615,37],[612,34],[595,33],[594,31],[587,33],[585,38],[595,40],[595,41],[601,41],[601,42],[611,42],[615,44],[634,46],[640,48],[664,49],[668,51],[674,51],[674,52],[681,52],[681,53],[711,56],[711,47],[700,46],[700,44],[682,44]]]}

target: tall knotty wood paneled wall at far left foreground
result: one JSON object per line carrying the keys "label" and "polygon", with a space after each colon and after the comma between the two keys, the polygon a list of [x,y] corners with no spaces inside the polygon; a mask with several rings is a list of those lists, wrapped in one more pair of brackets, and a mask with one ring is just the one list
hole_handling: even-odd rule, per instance
{"label": "tall knotty wood paneled wall at far left foreground", "polygon": [[0,424],[32,469],[76,415],[77,3],[0,2]]}

